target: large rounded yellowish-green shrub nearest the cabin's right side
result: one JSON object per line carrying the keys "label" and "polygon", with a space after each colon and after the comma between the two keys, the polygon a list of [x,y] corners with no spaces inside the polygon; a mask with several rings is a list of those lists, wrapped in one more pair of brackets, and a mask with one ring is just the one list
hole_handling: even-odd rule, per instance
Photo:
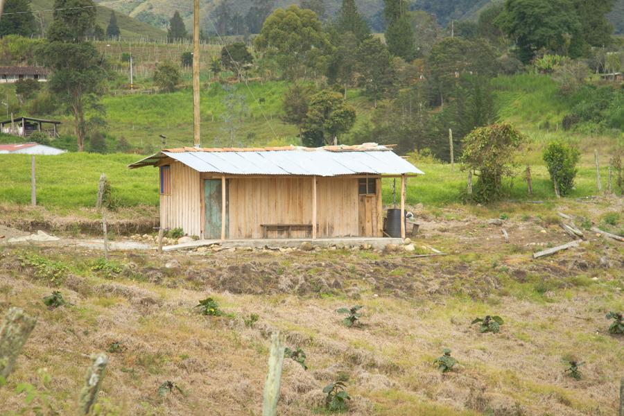
{"label": "large rounded yellowish-green shrub nearest the cabin's right side", "polygon": [[476,128],[462,139],[462,169],[478,176],[474,198],[491,202],[501,196],[503,177],[514,173],[514,156],[526,138],[512,125],[492,124]]}

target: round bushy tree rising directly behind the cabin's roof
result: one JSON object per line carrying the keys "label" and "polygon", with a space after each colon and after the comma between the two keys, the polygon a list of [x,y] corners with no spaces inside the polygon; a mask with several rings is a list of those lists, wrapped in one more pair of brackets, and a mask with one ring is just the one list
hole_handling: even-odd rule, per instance
{"label": "round bushy tree rising directly behind the cabin's roof", "polygon": [[338,141],[355,123],[354,108],[337,92],[324,90],[310,98],[303,141],[306,146],[323,146]]}

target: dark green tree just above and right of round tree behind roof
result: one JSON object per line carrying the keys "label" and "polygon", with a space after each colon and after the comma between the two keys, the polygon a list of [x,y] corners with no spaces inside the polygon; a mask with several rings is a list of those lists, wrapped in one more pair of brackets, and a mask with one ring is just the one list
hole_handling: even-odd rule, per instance
{"label": "dark green tree just above and right of round tree behind roof", "polygon": [[359,85],[375,105],[394,89],[395,67],[388,48],[377,37],[364,40],[357,51]]}

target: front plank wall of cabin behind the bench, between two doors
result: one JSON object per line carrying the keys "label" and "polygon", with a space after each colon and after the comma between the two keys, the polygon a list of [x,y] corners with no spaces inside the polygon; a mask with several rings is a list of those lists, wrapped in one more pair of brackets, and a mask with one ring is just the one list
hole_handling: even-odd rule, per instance
{"label": "front plank wall of cabin behind the bench, between two doors", "polygon": [[[261,239],[261,224],[312,221],[311,177],[234,177],[229,180],[229,239]],[[358,236],[358,182],[318,178],[318,237]],[[309,236],[305,231],[291,237]],[[284,238],[270,232],[269,238]]]}

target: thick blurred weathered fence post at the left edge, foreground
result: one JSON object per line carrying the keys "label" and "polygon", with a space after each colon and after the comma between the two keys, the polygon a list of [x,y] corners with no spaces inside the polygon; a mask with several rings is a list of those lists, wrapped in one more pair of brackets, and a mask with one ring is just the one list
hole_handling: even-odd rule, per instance
{"label": "thick blurred weathered fence post at the left edge, foreground", "polygon": [[17,356],[35,328],[37,320],[24,313],[24,309],[12,307],[4,316],[0,327],[0,377],[7,379],[13,370]]}

